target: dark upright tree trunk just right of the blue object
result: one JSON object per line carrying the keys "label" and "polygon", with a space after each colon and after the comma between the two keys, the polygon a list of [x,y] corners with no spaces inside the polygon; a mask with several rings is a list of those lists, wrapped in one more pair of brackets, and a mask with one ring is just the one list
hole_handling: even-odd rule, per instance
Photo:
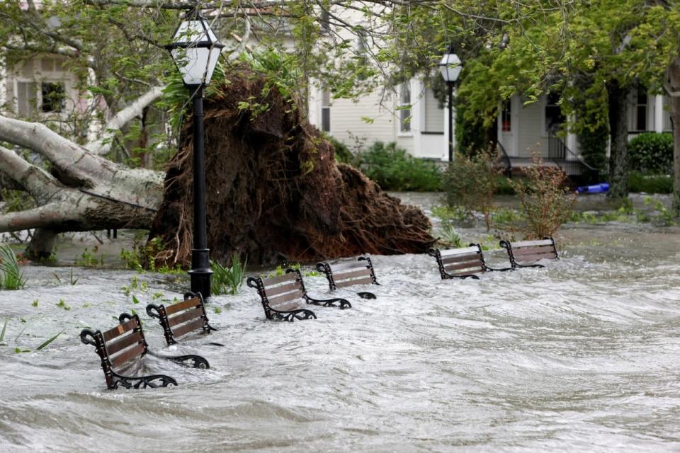
{"label": "dark upright tree trunk just right of the blue object", "polygon": [[630,88],[612,79],[607,84],[609,97],[609,193],[615,199],[628,197],[628,117],[626,107]]}

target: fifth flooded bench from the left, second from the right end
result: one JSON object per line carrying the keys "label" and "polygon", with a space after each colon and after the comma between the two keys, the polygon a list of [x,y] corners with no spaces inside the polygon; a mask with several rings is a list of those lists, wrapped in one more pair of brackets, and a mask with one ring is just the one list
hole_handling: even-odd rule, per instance
{"label": "fifth flooded bench from the left, second from the right end", "polygon": [[482,246],[478,243],[471,243],[467,247],[450,248],[448,250],[430,248],[427,254],[436,259],[441,280],[449,278],[472,278],[479,280],[480,277],[476,274],[512,270],[512,268],[489,268],[484,260]]}

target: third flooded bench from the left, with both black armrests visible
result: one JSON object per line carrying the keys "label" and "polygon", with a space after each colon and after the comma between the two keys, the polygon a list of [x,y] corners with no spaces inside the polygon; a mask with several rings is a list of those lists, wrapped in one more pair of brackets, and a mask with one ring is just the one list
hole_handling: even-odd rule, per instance
{"label": "third flooded bench from the left, with both black armrests visible", "polygon": [[297,269],[287,269],[285,274],[274,277],[248,277],[246,285],[257,289],[262,299],[264,316],[267,319],[295,321],[295,319],[316,319],[314,311],[302,308],[303,304],[336,306],[340,309],[351,308],[345,299],[314,299],[307,294],[302,273]]}

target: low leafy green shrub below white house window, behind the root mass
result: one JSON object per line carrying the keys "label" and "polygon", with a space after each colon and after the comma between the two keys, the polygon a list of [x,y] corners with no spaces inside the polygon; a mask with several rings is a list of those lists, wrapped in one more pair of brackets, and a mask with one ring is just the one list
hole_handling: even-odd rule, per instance
{"label": "low leafy green shrub below white house window, behind the root mass", "polygon": [[416,159],[397,144],[375,142],[358,154],[358,167],[383,190],[433,192],[441,187],[436,164]]}

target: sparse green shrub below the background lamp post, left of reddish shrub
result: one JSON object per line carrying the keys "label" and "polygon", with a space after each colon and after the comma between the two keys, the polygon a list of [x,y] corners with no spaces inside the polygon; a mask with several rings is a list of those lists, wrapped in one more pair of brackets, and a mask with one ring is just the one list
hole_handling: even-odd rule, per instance
{"label": "sparse green shrub below the background lamp post, left of reddish shrub", "polygon": [[442,180],[447,204],[467,214],[482,212],[487,231],[491,229],[493,196],[498,185],[499,169],[494,161],[491,151],[480,151],[472,157],[457,154]]}

